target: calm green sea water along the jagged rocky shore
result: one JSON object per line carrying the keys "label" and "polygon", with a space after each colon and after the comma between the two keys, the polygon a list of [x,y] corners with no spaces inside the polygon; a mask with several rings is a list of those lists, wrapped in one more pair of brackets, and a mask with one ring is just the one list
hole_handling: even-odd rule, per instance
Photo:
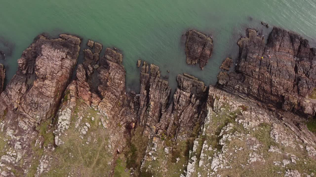
{"label": "calm green sea water along the jagged rocky shore", "polygon": [[[82,37],[82,49],[88,48],[88,39],[102,43],[100,56],[106,47],[119,49],[124,55],[127,90],[139,87],[139,59],[159,66],[173,89],[177,74],[183,72],[206,85],[216,84],[219,66],[226,57],[238,56],[236,43],[247,27],[262,29],[266,38],[272,26],[296,31],[315,47],[313,0],[1,1],[0,50],[6,60],[0,63],[7,69],[6,82],[15,74],[23,50],[43,32],[52,38],[61,33]],[[213,37],[214,53],[204,70],[185,62],[183,35],[190,29]],[[82,55],[81,50],[78,63]]]}

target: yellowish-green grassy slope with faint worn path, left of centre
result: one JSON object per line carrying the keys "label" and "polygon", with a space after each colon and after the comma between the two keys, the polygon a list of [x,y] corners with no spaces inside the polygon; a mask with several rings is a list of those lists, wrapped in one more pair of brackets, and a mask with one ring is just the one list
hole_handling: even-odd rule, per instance
{"label": "yellowish-green grassy slope with faint worn path, left of centre", "polygon": [[[75,122],[78,115],[74,114],[71,117],[70,128],[65,131],[66,136],[62,139],[65,143],[57,146],[54,151],[45,152],[45,155],[50,157],[49,163],[51,168],[49,172],[43,173],[41,176],[64,177],[68,176],[71,172],[73,172],[73,176],[101,177],[110,175],[111,164],[109,162],[111,162],[113,157],[112,149],[108,147],[108,131],[101,128],[102,126],[98,124],[100,122],[100,115],[97,114],[97,111],[90,107],[89,109],[86,108],[87,106],[83,100],[79,99],[77,100],[74,112],[75,114],[83,114],[82,122],[90,123],[91,128],[81,138],[80,130],[75,130]],[[91,120],[91,117],[94,117],[94,121]],[[36,128],[39,131],[39,135],[44,137],[44,146],[54,142],[53,128],[49,128],[49,124],[50,122],[47,121]],[[43,148],[40,149],[38,147],[34,147],[33,152],[34,159],[32,159],[31,168],[27,176],[34,176],[39,165],[39,160],[44,154]],[[125,168],[124,160],[118,160],[118,162],[117,174],[126,176],[123,171],[120,171],[121,168]]]}

